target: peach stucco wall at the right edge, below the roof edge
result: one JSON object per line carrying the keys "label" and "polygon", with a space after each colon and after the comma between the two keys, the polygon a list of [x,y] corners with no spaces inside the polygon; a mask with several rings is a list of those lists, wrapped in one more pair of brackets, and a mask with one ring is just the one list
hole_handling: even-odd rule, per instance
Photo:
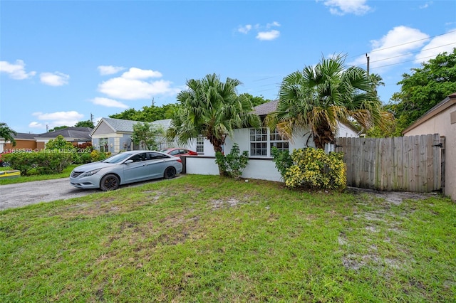
{"label": "peach stucco wall at the right edge, below the roof edge", "polygon": [[404,135],[440,134],[440,136],[445,136],[445,195],[456,201],[456,121],[453,123],[451,121],[452,112],[453,115],[456,115],[456,104],[411,129],[405,129]]}

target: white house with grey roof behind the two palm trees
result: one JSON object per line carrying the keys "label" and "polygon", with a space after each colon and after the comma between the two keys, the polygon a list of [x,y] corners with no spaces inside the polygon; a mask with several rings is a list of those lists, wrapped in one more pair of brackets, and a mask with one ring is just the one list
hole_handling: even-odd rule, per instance
{"label": "white house with grey roof behind the two palm trees", "polygon": [[[279,101],[271,101],[254,107],[254,112],[262,120],[271,112],[274,112]],[[356,129],[352,129],[345,124],[338,125],[336,137],[359,137]],[[198,141],[199,140],[199,141]],[[280,134],[268,127],[261,129],[244,128],[235,129],[232,137],[226,139],[224,153],[231,151],[234,143],[239,145],[239,150],[249,151],[249,165],[244,170],[242,177],[252,179],[264,179],[270,181],[280,181],[281,176],[272,161],[272,147],[277,149],[293,151],[304,147],[315,147],[314,140],[309,133],[309,129],[297,129],[293,133],[292,140],[284,140]],[[188,144],[188,149],[194,149],[201,155],[187,158],[187,174],[209,174],[217,175],[219,170],[214,162],[214,149],[212,145],[203,138],[192,140]],[[328,147],[328,150],[331,149]],[[201,152],[202,151],[202,152]]]}

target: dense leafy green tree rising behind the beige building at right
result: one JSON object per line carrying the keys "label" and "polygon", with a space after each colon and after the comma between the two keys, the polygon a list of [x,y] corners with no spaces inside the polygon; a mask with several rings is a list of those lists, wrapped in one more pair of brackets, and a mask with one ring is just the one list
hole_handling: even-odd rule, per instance
{"label": "dense leafy green tree rising behind the beige building at right", "polygon": [[421,68],[412,68],[398,82],[400,92],[391,97],[388,108],[398,119],[397,134],[415,122],[434,105],[456,92],[456,48],[452,53],[441,53],[422,63]]}

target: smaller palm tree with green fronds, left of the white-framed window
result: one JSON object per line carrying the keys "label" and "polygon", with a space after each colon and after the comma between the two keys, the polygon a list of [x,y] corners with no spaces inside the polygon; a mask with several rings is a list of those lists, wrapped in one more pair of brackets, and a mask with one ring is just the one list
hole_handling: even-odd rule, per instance
{"label": "smaller palm tree with green fronds, left of the white-framed window", "polygon": [[168,139],[177,137],[180,144],[187,144],[189,140],[203,136],[217,152],[222,151],[222,145],[233,129],[260,127],[252,103],[247,97],[237,95],[240,84],[232,78],[223,83],[215,74],[206,75],[202,80],[187,80],[188,90],[177,95],[179,108],[167,131]]}

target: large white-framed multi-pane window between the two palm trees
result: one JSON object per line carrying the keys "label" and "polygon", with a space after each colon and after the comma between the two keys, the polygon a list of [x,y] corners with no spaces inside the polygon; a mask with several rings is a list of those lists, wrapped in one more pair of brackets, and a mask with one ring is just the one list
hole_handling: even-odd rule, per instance
{"label": "large white-framed multi-pane window between the two palm trees", "polygon": [[267,127],[250,129],[250,156],[271,156],[272,147],[289,150],[289,142],[281,137],[277,129],[269,131]]}

